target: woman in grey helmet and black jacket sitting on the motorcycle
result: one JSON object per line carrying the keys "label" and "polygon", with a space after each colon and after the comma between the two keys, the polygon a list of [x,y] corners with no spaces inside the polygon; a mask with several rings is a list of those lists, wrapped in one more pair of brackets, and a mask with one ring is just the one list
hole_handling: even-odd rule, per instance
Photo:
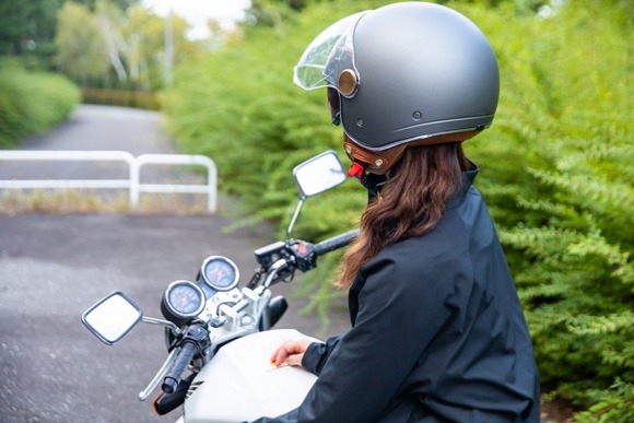
{"label": "woman in grey helmet and black jacket sitting on the motorcycle", "polygon": [[371,201],[338,279],[352,328],[273,353],[319,377],[259,422],[539,422],[530,337],[461,146],[497,107],[484,35],[445,7],[396,3],[327,28],[295,82],[328,86]]}

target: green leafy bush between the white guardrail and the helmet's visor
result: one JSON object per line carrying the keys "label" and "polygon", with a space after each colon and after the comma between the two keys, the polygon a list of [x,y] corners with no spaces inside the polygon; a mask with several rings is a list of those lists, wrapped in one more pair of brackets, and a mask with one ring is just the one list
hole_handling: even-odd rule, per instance
{"label": "green leafy bush between the white guardrail and the helmet's visor", "polygon": [[[338,14],[349,14],[353,9],[348,8]],[[339,131],[328,125],[325,93],[306,95],[290,83],[304,47],[332,16],[331,8],[315,8],[285,24],[247,27],[248,43],[228,45],[200,63],[181,67],[174,91],[163,98],[172,130],[184,149],[214,158],[224,189],[238,192],[257,210],[257,220],[251,219],[250,224],[287,222],[296,198],[291,169],[324,150],[341,150]],[[345,203],[353,202],[356,210],[343,213],[350,220],[359,214],[365,195],[356,186],[349,187],[355,191],[352,198],[356,197],[351,201],[345,196]],[[298,231],[310,219],[310,207],[306,209]],[[312,227],[310,235],[350,226],[349,221],[338,221],[340,208],[334,209],[338,212],[329,207],[321,210],[328,210],[319,218],[322,228]],[[327,216],[333,220],[325,220]]]}

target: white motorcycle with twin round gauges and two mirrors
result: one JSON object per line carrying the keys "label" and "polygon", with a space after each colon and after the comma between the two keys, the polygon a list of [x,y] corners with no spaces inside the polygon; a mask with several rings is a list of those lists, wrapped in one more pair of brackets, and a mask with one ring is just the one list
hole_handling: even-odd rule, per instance
{"label": "white motorcycle with twin round gauges and two mirrors", "polygon": [[271,286],[307,272],[317,258],[349,245],[359,231],[312,244],[291,232],[304,201],[342,184],[345,178],[333,151],[293,171],[300,192],[286,239],[255,250],[258,268],[240,287],[236,265],[224,256],[204,259],[196,281],[168,284],[161,302],[163,319],[148,317],[126,293],[115,291],[82,315],[82,322],[102,342],[113,345],[139,322],[164,327],[168,355],[139,400],[161,385],[153,401],[164,415],[183,406],[178,423],[244,422],[280,415],[298,407],[316,376],[293,366],[270,363],[282,343],[306,338],[293,329],[271,329],[287,308]]}

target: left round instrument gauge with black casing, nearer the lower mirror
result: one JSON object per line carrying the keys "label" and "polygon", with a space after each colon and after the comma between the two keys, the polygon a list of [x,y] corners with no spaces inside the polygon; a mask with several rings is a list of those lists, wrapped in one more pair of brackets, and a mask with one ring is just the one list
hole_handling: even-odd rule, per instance
{"label": "left round instrument gauge with black casing, nearer the lower mirror", "polygon": [[200,286],[189,281],[174,281],[165,290],[161,302],[163,316],[174,322],[186,322],[198,316],[206,306]]}

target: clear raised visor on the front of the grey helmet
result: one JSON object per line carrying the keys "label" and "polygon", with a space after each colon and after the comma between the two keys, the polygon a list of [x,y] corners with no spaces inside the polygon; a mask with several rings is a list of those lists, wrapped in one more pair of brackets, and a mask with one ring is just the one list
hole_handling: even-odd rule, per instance
{"label": "clear raised visor on the front of the grey helmet", "polygon": [[356,23],[365,13],[367,11],[344,17],[319,34],[295,66],[293,82],[304,90],[322,86],[339,90],[339,75],[345,69],[354,71],[356,81],[361,81],[354,66],[352,34]]}

